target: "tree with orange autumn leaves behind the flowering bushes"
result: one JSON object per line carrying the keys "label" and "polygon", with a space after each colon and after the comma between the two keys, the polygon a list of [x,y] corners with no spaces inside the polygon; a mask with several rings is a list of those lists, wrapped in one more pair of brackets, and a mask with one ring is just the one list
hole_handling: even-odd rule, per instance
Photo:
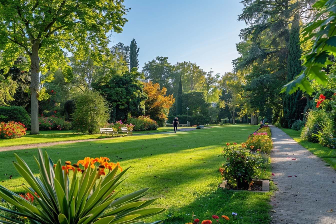
{"label": "tree with orange autumn leaves behind the flowering bushes", "polygon": [[167,89],[160,89],[159,83],[153,84],[152,81],[143,83],[143,92],[148,95],[145,100],[145,113],[155,120],[160,127],[166,125],[169,108],[175,102],[173,95],[166,96]]}

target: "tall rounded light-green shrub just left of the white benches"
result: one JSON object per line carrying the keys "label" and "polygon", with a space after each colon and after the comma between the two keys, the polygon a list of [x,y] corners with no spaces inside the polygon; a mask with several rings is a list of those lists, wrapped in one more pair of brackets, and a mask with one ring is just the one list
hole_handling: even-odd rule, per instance
{"label": "tall rounded light-green shrub just left of the white benches", "polygon": [[110,115],[108,102],[98,92],[87,92],[79,96],[76,110],[72,114],[72,126],[76,133],[99,133],[107,124]]}

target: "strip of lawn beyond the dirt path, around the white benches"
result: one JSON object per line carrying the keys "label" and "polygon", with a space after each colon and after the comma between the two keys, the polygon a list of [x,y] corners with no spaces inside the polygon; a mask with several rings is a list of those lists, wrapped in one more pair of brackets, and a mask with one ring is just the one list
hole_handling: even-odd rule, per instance
{"label": "strip of lawn beyond the dirt path, around the white benches", "polygon": [[[167,128],[158,128],[158,130],[152,130],[152,131],[135,131],[133,132],[133,135],[167,132],[167,131],[172,132],[173,128],[167,127]],[[30,132],[27,131],[27,135],[22,136],[22,138],[0,139],[0,147],[101,138],[100,134],[92,134],[92,135],[75,134],[72,133],[72,131],[40,131],[39,135],[30,135],[29,133]],[[103,136],[103,138],[105,137]]]}

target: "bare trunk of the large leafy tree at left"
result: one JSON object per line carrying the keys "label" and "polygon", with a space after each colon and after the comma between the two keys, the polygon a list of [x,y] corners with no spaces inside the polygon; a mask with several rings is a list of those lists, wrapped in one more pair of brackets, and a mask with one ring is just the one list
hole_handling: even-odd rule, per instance
{"label": "bare trunk of the large leafy tree at left", "polygon": [[32,82],[30,84],[30,104],[31,104],[31,135],[38,135],[39,132],[39,73],[40,73],[40,58],[39,58],[39,42],[35,42],[32,48],[31,73]]}

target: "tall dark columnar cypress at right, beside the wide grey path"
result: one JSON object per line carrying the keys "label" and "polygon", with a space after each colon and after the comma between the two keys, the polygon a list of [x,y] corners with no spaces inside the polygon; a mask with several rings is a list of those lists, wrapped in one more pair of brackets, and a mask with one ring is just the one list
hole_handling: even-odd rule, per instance
{"label": "tall dark columnar cypress at right, beside the wide grey path", "polygon": [[[288,43],[288,58],[287,58],[287,82],[293,80],[302,71],[300,49],[300,14],[294,15],[292,23],[289,43]],[[291,95],[286,95],[284,99],[284,125],[289,128],[294,120],[302,117],[303,109],[299,107],[299,100],[302,98],[302,91],[297,91]]]}

